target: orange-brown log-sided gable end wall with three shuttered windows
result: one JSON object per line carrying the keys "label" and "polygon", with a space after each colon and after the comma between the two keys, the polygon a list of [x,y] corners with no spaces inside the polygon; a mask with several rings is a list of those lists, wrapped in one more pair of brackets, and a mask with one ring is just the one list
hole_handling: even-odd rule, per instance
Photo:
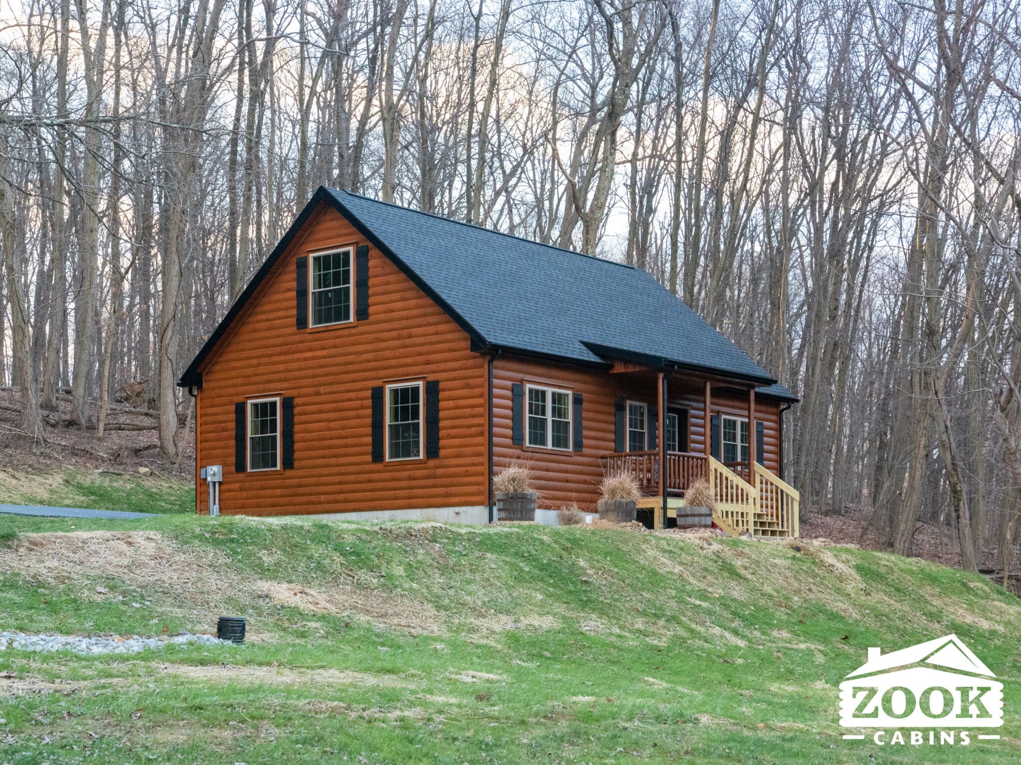
{"label": "orange-brown log-sided gable end wall with three shuttered windows", "polygon": [[[348,244],[367,243],[338,212],[309,219],[200,370],[197,464],[224,466],[225,515],[487,502],[486,359],[385,255],[369,250],[368,319],[296,328],[296,258]],[[439,380],[440,456],[374,463],[371,390],[401,378]],[[237,473],[235,402],[266,395],[294,397],[294,468]],[[198,511],[207,513],[205,483],[196,484]]]}

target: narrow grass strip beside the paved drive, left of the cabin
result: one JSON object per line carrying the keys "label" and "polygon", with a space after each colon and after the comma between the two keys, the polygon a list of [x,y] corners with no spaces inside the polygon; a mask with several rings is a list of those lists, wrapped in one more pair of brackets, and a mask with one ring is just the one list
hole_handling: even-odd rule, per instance
{"label": "narrow grass strip beside the paved drive, left of the cabin", "polygon": [[195,512],[195,484],[156,475],[65,468],[41,475],[0,472],[0,503],[142,513]]}

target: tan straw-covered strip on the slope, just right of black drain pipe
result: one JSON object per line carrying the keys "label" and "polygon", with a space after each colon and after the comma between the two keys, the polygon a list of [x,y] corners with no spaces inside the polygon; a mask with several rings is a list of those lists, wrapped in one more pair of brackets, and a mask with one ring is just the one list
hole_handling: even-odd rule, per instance
{"label": "tan straw-covered strip on the slope, just right of black drain pipe", "polygon": [[308,613],[344,616],[356,614],[386,627],[441,634],[442,616],[432,606],[378,590],[355,590],[346,584],[329,592],[283,581],[258,581],[255,591],[281,606]]}

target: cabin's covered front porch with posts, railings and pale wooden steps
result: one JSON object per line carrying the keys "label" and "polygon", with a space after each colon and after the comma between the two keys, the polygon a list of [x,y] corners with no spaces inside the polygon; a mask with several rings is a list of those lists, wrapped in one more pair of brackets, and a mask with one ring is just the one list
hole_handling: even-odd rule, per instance
{"label": "cabin's covered front porch with posts, railings and pale wooden steps", "polygon": [[777,474],[782,425],[776,415],[774,472],[765,464],[766,428],[755,385],[632,361],[615,362],[611,374],[622,390],[651,394],[648,403],[618,401],[617,450],[600,462],[605,474],[635,477],[643,495],[639,507],[652,510],[653,527],[666,526],[684,506],[688,488],[706,479],[716,499],[713,521],[728,533],[797,536],[798,493]]}

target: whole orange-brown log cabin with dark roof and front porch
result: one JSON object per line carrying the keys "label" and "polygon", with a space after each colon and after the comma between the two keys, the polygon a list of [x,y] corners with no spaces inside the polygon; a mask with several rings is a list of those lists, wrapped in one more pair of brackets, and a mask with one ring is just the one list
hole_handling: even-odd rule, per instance
{"label": "whole orange-brown log cabin with dark roof and front porch", "polygon": [[179,385],[200,514],[485,523],[527,460],[540,508],[627,470],[662,526],[706,477],[721,527],[797,533],[797,399],[645,270],[357,194],[315,192]]}

